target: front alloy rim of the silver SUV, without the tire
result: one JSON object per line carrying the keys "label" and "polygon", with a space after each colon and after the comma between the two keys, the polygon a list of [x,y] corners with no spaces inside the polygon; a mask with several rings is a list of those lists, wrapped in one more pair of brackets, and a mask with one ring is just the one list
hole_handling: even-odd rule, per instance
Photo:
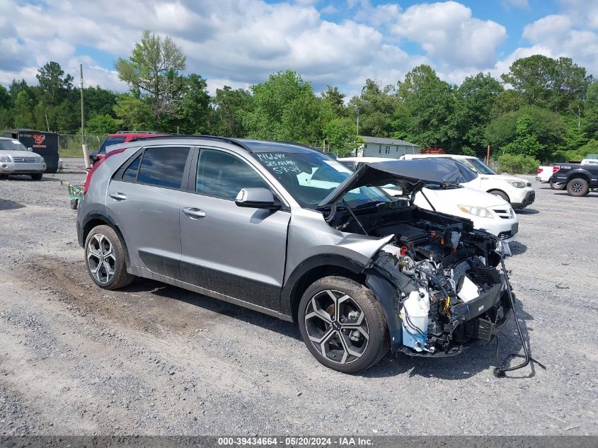
{"label": "front alloy rim of the silver SUV, without the tire", "polygon": [[325,289],[311,298],[304,325],[311,343],[323,357],[349,364],[364,355],[369,341],[367,319],[349,295]]}

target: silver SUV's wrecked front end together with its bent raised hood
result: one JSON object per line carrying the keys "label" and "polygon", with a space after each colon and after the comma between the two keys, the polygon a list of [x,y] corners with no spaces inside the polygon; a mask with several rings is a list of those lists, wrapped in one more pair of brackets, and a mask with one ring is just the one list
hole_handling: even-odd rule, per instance
{"label": "silver SUV's wrecked front end together with its bent raised hood", "polygon": [[[442,160],[365,163],[320,204],[335,229],[393,235],[364,274],[386,314],[395,352],[456,355],[475,340],[492,340],[513,314],[502,242],[473,229],[468,219],[413,204],[426,184],[459,183],[467,180],[462,173],[456,163]],[[401,188],[402,205],[371,202],[352,209],[343,202],[361,185],[389,183]]]}

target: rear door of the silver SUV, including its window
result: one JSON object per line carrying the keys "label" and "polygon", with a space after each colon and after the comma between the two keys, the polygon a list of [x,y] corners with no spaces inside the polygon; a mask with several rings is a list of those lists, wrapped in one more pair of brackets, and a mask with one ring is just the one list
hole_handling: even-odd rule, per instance
{"label": "rear door of the silver SUV, including its window", "polygon": [[173,278],[180,277],[178,215],[190,149],[138,151],[115,173],[105,202],[125,237],[132,265]]}

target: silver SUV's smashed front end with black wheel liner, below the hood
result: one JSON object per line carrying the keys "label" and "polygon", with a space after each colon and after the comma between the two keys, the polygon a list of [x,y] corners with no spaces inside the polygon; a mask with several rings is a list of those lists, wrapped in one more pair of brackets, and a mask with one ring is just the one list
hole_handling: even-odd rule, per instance
{"label": "silver SUV's smashed front end with black wheel liner, below the hood", "polygon": [[398,225],[366,269],[368,286],[393,297],[384,300],[393,351],[447,356],[492,340],[512,314],[498,243],[459,225],[415,224]]}

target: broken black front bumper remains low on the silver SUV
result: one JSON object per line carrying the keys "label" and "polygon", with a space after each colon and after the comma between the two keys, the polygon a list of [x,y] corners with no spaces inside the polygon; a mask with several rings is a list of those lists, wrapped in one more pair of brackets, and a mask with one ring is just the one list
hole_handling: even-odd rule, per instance
{"label": "broken black front bumper remains low on the silver SUV", "polygon": [[393,344],[393,351],[423,357],[459,355],[476,340],[493,340],[495,335],[505,327],[512,314],[507,283],[503,282],[502,285],[495,285],[476,299],[453,306],[452,332],[427,336],[428,344],[431,348],[435,348],[434,351],[418,352],[402,345],[402,341]]}

